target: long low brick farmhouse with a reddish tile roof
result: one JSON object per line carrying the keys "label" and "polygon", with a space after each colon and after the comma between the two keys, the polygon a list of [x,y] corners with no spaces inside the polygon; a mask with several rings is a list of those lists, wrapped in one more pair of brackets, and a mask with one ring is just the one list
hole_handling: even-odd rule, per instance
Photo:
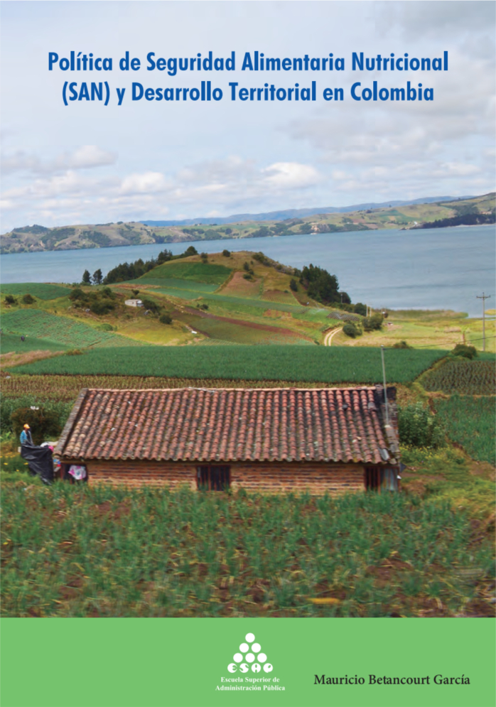
{"label": "long low brick farmhouse with a reddish tile roof", "polygon": [[396,390],[83,389],[55,449],[90,483],[397,490]]}

